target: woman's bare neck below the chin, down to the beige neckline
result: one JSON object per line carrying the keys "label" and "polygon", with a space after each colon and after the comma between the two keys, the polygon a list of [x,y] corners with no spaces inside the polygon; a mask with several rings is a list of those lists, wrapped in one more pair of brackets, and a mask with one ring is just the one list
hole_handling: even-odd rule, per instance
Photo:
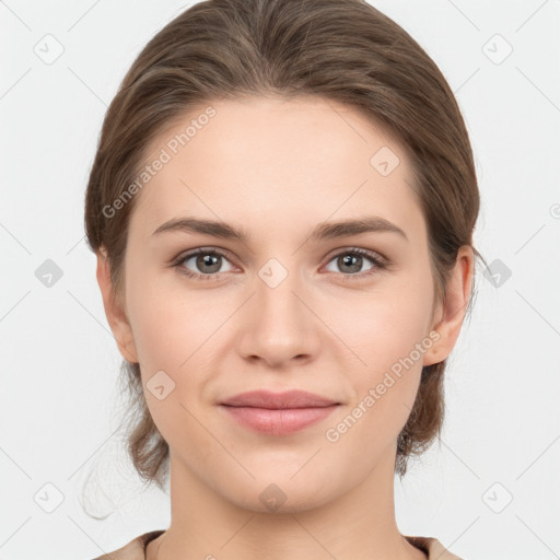
{"label": "woman's bare neck below the chin, down to the beige neckline", "polygon": [[172,455],[172,523],[149,545],[147,558],[425,560],[396,525],[394,457],[387,454],[362,482],[328,503],[271,513],[256,511],[260,502],[252,510],[225,499]]}

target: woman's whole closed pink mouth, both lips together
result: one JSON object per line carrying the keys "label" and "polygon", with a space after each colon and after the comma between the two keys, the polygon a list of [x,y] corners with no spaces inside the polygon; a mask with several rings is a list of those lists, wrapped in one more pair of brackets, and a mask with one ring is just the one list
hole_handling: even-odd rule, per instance
{"label": "woman's whole closed pink mouth, both lips together", "polygon": [[327,418],[340,402],[303,390],[253,390],[220,407],[241,425],[269,435],[288,435]]}

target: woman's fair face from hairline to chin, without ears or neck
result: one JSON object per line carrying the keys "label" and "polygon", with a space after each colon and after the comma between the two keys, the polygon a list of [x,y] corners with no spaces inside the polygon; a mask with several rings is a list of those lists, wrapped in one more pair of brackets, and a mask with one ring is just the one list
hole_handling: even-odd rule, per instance
{"label": "woman's fair face from hairline to chin, without ears or neck", "polygon": [[[422,366],[443,359],[413,172],[400,143],[345,105],[208,105],[210,118],[190,112],[150,147],[147,164],[165,161],[129,225],[128,351],[172,471],[252,510],[278,489],[287,509],[312,508],[393,464]],[[170,225],[187,219],[220,228]],[[328,226],[357,220],[366,228]],[[336,405],[223,405],[260,389]]]}

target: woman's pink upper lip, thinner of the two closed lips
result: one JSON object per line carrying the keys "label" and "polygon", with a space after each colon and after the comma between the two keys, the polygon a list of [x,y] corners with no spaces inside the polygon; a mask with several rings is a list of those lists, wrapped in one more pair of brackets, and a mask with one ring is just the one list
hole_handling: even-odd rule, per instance
{"label": "woman's pink upper lip, thinner of the two closed lips", "polygon": [[273,393],[271,390],[249,390],[240,393],[234,397],[221,402],[232,407],[255,407],[255,408],[310,408],[310,407],[329,407],[339,405],[330,398],[307,393],[305,390],[287,390],[283,393]]}

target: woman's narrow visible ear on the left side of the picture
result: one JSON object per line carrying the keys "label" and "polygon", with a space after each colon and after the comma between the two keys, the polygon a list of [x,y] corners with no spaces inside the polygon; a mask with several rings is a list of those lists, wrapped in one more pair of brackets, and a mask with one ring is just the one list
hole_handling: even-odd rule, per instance
{"label": "woman's narrow visible ear on the left side of the picture", "polygon": [[110,280],[110,265],[106,250],[102,247],[96,252],[97,256],[97,283],[103,296],[103,306],[113,336],[117,341],[119,352],[128,362],[137,363],[138,354],[136,351],[132,329],[126,315],[124,298],[115,293],[115,288]]}

